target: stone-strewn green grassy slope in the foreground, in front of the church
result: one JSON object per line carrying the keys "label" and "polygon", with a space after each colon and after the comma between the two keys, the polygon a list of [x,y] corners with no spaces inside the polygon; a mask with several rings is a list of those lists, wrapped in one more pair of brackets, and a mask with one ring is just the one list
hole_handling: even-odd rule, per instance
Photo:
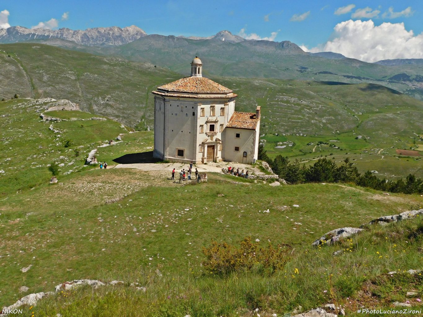
{"label": "stone-strewn green grassy slope in the foreground, in front of the church", "polygon": [[[88,112],[45,112],[56,119],[41,120],[55,104],[48,99],[0,103],[0,306],[86,278],[137,282],[147,290],[82,288],[25,307],[23,315],[106,316],[118,310],[117,316],[249,316],[259,308],[267,316],[327,302],[352,312],[362,303],[388,307],[412,289],[421,294],[419,276],[391,281],[386,275],[421,267],[420,219],[374,227],[339,247],[310,248],[334,228],[420,208],[420,196],[340,184],[234,183],[229,175],[213,173],[208,183],[181,186],[167,180],[166,171],[113,169],[113,159],[151,150],[152,132],[129,133],[120,123],[93,119]],[[119,134],[122,142],[104,146]],[[92,149],[99,161],[109,163],[107,170],[83,166]],[[63,166],[58,183],[50,185],[52,161]],[[202,247],[211,238],[238,244],[245,236],[260,240],[262,247],[284,243],[290,250],[284,268],[270,274],[258,266],[228,276],[204,270]],[[352,252],[330,256],[351,249],[349,243]],[[332,278],[326,278],[329,272]],[[346,279],[347,272],[354,278]],[[24,285],[29,289],[19,292]],[[398,285],[400,291],[391,290]],[[372,295],[363,299],[368,290]]]}

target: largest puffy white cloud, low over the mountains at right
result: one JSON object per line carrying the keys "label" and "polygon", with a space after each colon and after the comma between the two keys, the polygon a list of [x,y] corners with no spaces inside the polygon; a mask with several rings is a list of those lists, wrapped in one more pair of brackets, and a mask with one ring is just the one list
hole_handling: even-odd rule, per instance
{"label": "largest puffy white cloud, low over the mountains at right", "polygon": [[310,52],[335,52],[346,57],[376,62],[396,58],[423,58],[423,33],[415,35],[404,23],[348,20],[338,23],[331,40]]}

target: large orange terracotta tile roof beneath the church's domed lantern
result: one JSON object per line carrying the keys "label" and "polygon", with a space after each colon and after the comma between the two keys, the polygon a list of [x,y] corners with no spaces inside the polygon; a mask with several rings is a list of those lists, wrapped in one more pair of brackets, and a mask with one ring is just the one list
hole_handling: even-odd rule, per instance
{"label": "large orange terracotta tile roof beneath the church's domed lantern", "polygon": [[232,90],[214,82],[206,77],[185,77],[160,86],[157,90],[165,90],[172,93],[211,93],[228,94]]}

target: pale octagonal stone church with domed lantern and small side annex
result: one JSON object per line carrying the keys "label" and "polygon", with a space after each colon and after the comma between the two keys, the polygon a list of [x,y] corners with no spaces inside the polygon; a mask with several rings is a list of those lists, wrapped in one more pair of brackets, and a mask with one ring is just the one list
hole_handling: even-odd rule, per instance
{"label": "pale octagonal stone church with domed lantern and small side annex", "polygon": [[235,111],[237,95],[202,76],[196,56],[191,76],[154,94],[154,157],[172,162],[253,163],[258,156],[260,107]]}

